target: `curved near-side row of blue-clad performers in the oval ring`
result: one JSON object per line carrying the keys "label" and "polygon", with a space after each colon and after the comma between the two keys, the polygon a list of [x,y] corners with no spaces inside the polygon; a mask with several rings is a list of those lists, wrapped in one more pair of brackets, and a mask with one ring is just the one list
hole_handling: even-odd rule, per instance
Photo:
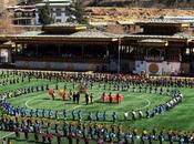
{"label": "curved near-side row of blue-clad performers in the oval ring", "polygon": [[[172,107],[176,106],[178,103],[181,103],[183,100],[183,94],[178,91],[174,91],[172,99],[169,100],[164,104],[160,104],[154,106],[153,109],[147,109],[146,111],[134,111],[131,112],[124,112],[123,117],[120,117],[121,120],[129,121],[129,120],[139,120],[143,117],[153,117],[157,114],[161,114],[163,112],[170,111]],[[81,110],[72,112],[64,110],[61,114],[59,111],[52,111],[52,110],[28,110],[27,107],[20,107],[20,106],[12,106],[7,100],[3,100],[1,103],[1,106],[6,113],[9,115],[16,115],[16,116],[29,116],[29,117],[40,117],[40,119],[64,119],[64,120],[73,120],[73,121],[110,121],[112,117],[112,122],[116,122],[119,120],[119,115],[116,112],[112,112],[111,116],[110,113],[106,111],[101,113],[96,111],[95,113],[92,112],[83,112]],[[71,114],[70,114],[71,113]],[[93,116],[93,114],[95,116]],[[120,115],[121,116],[121,115]]]}

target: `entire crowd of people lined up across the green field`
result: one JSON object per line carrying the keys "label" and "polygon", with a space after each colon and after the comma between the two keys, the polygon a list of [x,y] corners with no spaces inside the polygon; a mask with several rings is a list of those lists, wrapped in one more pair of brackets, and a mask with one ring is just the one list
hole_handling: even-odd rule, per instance
{"label": "entire crowd of people lined up across the green field", "polygon": [[[10,75],[18,78],[9,79]],[[44,92],[49,90],[49,84],[20,88],[18,90],[11,90],[4,93],[0,93],[1,107],[3,112],[16,120],[1,117],[0,119],[0,131],[10,131],[16,133],[16,138],[20,140],[20,134],[23,133],[25,141],[29,141],[30,135],[34,135],[34,142],[52,143],[53,138],[58,144],[62,143],[63,138],[67,138],[69,144],[73,141],[76,144],[90,144],[91,141],[95,140],[98,144],[103,144],[109,142],[112,144],[116,142],[118,144],[129,144],[134,143],[134,141],[140,141],[142,144],[145,142],[149,144],[154,144],[159,141],[160,144],[163,142],[174,142],[183,143],[194,143],[193,133],[182,133],[171,130],[161,130],[156,132],[154,128],[151,132],[142,130],[137,132],[136,128],[129,128],[123,131],[122,124],[115,125],[115,123],[122,121],[135,121],[141,119],[151,119],[155,115],[162,114],[170,111],[177,104],[182,103],[183,94],[178,91],[178,88],[193,88],[194,81],[192,79],[178,79],[178,78],[146,78],[143,75],[122,75],[122,74],[104,74],[104,73],[63,73],[63,72],[41,72],[41,71],[2,71],[0,78],[7,78],[6,81],[0,82],[0,85],[14,84],[25,81],[30,82],[31,79],[45,79],[48,82],[70,82],[72,83],[72,90],[75,85],[85,82],[85,86],[93,89],[94,84],[98,84],[98,89],[103,91],[131,91],[131,92],[142,92],[142,93],[157,93],[167,94],[170,100],[163,104],[155,105],[152,109],[145,111],[142,110],[131,110],[123,112],[122,114],[116,111],[113,112],[90,112],[81,110],[63,110],[63,112],[53,110],[28,110],[27,107],[12,106],[8,99],[20,96],[22,94],[33,93],[33,92]],[[21,78],[21,79],[20,79]],[[173,89],[172,88],[176,88]],[[64,90],[67,85],[64,85]],[[58,84],[55,84],[55,90],[58,90]],[[80,92],[72,92],[70,90],[67,93],[73,103],[80,103]],[[93,93],[85,94],[85,104],[93,103]],[[100,96],[100,95],[99,95]],[[27,121],[19,121],[18,117],[25,117]],[[31,120],[64,120],[62,125],[58,123],[43,123],[32,122]],[[76,122],[76,124],[67,123],[67,121]],[[82,122],[89,122],[90,124],[83,124]],[[95,122],[95,123],[94,123]],[[103,124],[99,124],[102,123]],[[106,122],[113,122],[112,125],[108,125]],[[118,128],[116,128],[118,127]],[[29,135],[30,134],[30,135]],[[31,138],[31,137],[30,137]]]}

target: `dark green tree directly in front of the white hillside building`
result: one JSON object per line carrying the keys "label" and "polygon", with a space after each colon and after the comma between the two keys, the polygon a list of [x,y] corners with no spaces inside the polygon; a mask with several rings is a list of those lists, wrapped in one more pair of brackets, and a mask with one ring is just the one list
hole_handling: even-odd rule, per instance
{"label": "dark green tree directly in front of the white hillside building", "polygon": [[50,8],[50,4],[49,3],[45,3],[45,6],[43,6],[40,9],[39,21],[43,25],[51,24],[53,22],[52,13],[51,13],[51,8]]}

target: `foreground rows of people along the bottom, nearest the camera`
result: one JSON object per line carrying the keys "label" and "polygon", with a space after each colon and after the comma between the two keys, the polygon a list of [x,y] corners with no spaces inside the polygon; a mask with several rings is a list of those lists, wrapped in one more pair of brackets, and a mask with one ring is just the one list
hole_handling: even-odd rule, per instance
{"label": "foreground rows of people along the bottom, nearest the camera", "polygon": [[137,131],[136,128],[125,127],[120,123],[118,125],[109,125],[106,123],[45,123],[43,121],[32,122],[30,119],[21,120],[18,119],[0,119],[0,130],[10,131],[16,133],[16,138],[21,140],[21,133],[23,133],[25,141],[32,140],[30,133],[32,133],[34,142],[42,142],[50,144],[55,137],[58,144],[61,144],[64,138],[72,144],[73,141],[76,144],[90,144],[90,142],[96,141],[98,144],[109,142],[110,144],[134,144],[135,141],[141,141],[141,144],[154,144],[169,142],[170,144],[192,144],[194,143],[193,132],[180,132],[173,130],[162,128],[157,131],[153,127],[151,131],[145,128]]}

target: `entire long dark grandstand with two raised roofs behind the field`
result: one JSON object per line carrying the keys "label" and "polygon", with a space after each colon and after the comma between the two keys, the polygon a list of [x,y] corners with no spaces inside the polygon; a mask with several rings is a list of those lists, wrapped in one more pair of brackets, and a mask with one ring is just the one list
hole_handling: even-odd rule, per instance
{"label": "entire long dark grandstand with two raised roofs behind the field", "polygon": [[[135,34],[113,34],[80,24],[51,24],[43,31],[0,35],[1,45],[14,43],[11,60],[16,68],[111,71],[125,73],[192,74],[194,38],[177,21],[136,22]],[[14,49],[13,49],[14,48]]]}

